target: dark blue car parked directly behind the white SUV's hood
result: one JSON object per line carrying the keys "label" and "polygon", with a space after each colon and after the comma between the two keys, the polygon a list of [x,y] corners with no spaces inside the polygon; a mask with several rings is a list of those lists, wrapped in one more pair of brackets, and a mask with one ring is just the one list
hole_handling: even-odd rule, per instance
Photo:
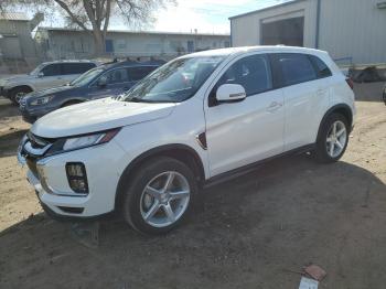
{"label": "dark blue car parked directly behind the white SUV's hood", "polygon": [[57,108],[86,100],[117,96],[160,66],[159,62],[117,62],[95,67],[67,85],[28,94],[20,101],[26,122],[34,122]]}

